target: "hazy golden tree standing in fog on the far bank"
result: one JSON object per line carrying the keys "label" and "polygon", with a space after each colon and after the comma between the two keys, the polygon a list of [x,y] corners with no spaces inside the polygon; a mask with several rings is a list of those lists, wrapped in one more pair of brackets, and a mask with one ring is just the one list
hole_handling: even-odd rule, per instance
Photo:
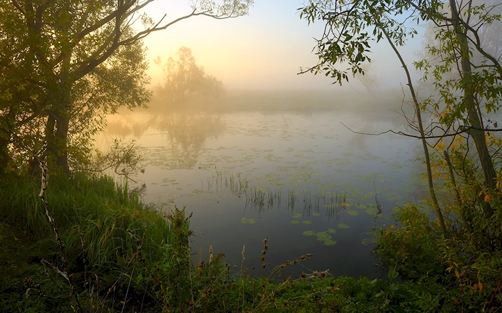
{"label": "hazy golden tree standing in fog on the far bank", "polygon": [[223,83],[214,76],[207,75],[204,68],[195,63],[189,48],[181,47],[176,56],[178,60],[169,57],[164,64],[160,57],[155,59],[155,64],[164,73],[164,84],[157,88],[162,98],[170,103],[183,102],[194,95],[221,98],[225,92]]}

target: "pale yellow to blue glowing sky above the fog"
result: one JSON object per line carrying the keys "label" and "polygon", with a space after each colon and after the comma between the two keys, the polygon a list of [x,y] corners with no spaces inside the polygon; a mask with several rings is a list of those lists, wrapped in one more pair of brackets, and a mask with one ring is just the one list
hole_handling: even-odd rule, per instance
{"label": "pale yellow to blue glowing sky above the fog", "polygon": [[[248,16],[215,20],[209,17],[191,17],[164,31],[155,32],[145,39],[150,61],[149,75],[155,85],[162,78],[160,68],[152,60],[174,56],[179,47],[192,50],[198,65],[207,74],[223,82],[228,89],[259,90],[329,90],[339,88],[324,75],[307,73],[297,75],[300,67],[313,66],[317,57],[312,53],[313,38],[322,35],[323,25],[300,20],[298,8],[303,1],[255,0]],[[186,0],[156,0],[146,13],[159,21],[166,21],[191,13]],[[413,60],[420,41],[403,50]],[[387,45],[378,44],[372,56],[374,73],[389,87],[398,87],[405,76],[397,57]],[[411,58],[410,58],[411,57]],[[343,67],[342,67],[343,68]],[[381,84],[382,85],[382,84]],[[352,80],[347,88],[361,88]]]}

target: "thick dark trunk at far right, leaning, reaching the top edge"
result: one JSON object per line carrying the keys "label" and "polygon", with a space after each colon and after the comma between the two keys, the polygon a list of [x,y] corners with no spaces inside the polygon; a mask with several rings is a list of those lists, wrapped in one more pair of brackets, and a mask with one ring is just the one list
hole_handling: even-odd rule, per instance
{"label": "thick dark trunk at far right, leaning, reaching the top edge", "polygon": [[[469,134],[472,136],[472,139],[474,140],[477,154],[479,156],[479,161],[483,169],[484,186],[487,189],[487,191],[490,192],[495,189],[496,172],[495,168],[493,167],[491,156],[488,152],[488,147],[486,146],[484,131],[480,130],[483,128],[483,125],[481,123],[479,116],[477,115],[476,102],[474,101],[474,89],[473,89],[474,82],[472,81],[472,72],[471,72],[470,56],[469,56],[469,43],[465,30],[462,29],[459,22],[459,16],[455,0],[450,0],[450,9],[451,9],[451,18],[454,21],[453,26],[455,28],[455,33],[457,35],[457,39],[460,44],[460,50],[461,50],[460,64],[462,68],[461,74],[464,88],[464,104],[467,108],[467,119],[470,126],[474,128],[470,129]],[[489,203],[486,203],[484,205],[484,214],[486,217],[491,217],[491,215],[493,214],[493,209],[491,208]]]}

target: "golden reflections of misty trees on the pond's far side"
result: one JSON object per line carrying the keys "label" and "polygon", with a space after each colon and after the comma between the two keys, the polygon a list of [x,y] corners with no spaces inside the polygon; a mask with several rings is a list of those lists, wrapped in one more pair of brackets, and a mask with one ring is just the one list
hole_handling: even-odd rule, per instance
{"label": "golden reflections of misty trees on the pond's far side", "polygon": [[225,124],[219,116],[210,114],[147,115],[141,120],[125,116],[108,123],[107,132],[122,138],[131,135],[139,138],[150,129],[167,134],[170,159],[176,163],[176,168],[191,168],[205,141],[219,137]]}

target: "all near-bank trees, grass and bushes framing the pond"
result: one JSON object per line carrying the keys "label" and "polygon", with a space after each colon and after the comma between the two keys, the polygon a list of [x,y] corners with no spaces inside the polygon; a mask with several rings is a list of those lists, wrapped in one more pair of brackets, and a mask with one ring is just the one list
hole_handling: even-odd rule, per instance
{"label": "all near-bank trees, grass and bushes framing the pond", "polygon": [[[212,248],[194,262],[185,210],[145,204],[143,189],[128,185],[142,170],[134,145],[116,141],[106,154],[91,151],[106,113],[143,107],[151,96],[141,39],[171,24],[136,16],[149,3],[0,3],[0,310],[502,310],[502,142],[488,117],[502,99],[502,66],[489,51],[499,45],[481,45],[484,28],[473,26],[500,21],[495,4],[457,8],[450,1],[446,14],[440,2],[311,1],[300,10],[310,23],[327,23],[320,62],[305,72],[341,84],[368,68],[371,40],[382,39],[405,69],[415,115],[402,113],[416,134],[401,134],[423,144],[430,196],[425,205],[396,208],[395,222],[373,229],[386,275],[370,280],[288,270],[319,257],[309,251],[269,264],[275,247],[267,238],[261,255],[242,247],[241,264],[231,264],[237,270],[224,263],[225,251]],[[196,2],[192,14],[176,21],[238,17],[252,1],[221,3]],[[414,63],[424,84],[434,77],[425,99],[416,96],[399,52],[417,34],[397,18],[403,13],[410,13],[405,21],[437,26],[428,57]],[[132,28],[133,17],[145,31]],[[340,27],[345,32],[333,35]],[[369,28],[372,35],[361,33]],[[338,61],[350,69],[339,70]],[[106,170],[126,180],[117,183]],[[261,260],[261,276],[249,275],[248,257]]]}

